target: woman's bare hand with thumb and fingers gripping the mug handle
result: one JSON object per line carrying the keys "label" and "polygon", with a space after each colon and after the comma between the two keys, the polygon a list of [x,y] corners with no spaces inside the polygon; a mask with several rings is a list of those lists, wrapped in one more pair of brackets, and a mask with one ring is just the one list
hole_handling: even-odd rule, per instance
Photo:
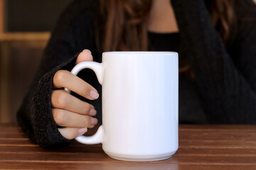
{"label": "woman's bare hand with thumb and fingers gripping the mug handle", "polygon": [[[90,50],[83,50],[75,64],[92,61]],[[93,128],[97,124],[95,107],[68,94],[63,88],[68,88],[76,94],[89,100],[99,97],[97,90],[87,82],[67,70],[59,70],[53,77],[53,91],[51,94],[52,113],[55,123],[64,128],[59,128],[63,137],[71,140]]]}

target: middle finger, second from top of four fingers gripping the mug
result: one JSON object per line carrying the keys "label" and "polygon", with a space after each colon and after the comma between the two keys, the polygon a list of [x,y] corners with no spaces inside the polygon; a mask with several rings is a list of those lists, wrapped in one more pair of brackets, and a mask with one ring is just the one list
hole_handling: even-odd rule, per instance
{"label": "middle finger, second from top of four fingers gripping the mug", "polygon": [[68,94],[64,90],[52,91],[51,104],[53,108],[61,108],[66,111],[79,113],[82,115],[95,115],[95,107],[85,101]]}

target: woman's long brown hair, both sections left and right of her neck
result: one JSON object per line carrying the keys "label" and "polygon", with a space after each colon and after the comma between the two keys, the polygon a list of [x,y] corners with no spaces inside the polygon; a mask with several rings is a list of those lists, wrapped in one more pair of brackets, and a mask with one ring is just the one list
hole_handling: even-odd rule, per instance
{"label": "woman's long brown hair, both sections left and right of her neck", "polygon": [[[233,1],[213,0],[209,8],[213,26],[224,44],[227,44],[235,23]],[[151,0],[100,0],[100,17],[105,18],[99,36],[101,50],[148,50],[146,18],[151,4]]]}

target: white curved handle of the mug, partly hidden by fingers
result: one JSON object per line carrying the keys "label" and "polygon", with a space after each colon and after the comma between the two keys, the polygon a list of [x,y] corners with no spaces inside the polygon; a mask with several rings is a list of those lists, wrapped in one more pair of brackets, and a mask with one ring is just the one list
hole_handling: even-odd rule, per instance
{"label": "white curved handle of the mug, partly hidden by fingers", "polygon": [[[95,72],[98,81],[100,84],[102,84],[103,81],[103,74],[102,74],[102,64],[98,62],[80,62],[75,67],[71,70],[71,73],[77,75],[78,72],[80,72],[82,69],[92,69],[92,71]],[[65,91],[67,91],[70,94],[70,90],[65,88]],[[97,130],[95,135],[92,135],[90,137],[86,136],[80,136],[76,137],[75,140],[82,144],[87,144],[87,145],[94,145],[94,144],[99,144],[102,143],[102,137],[103,137],[103,127],[102,125],[100,128]]]}

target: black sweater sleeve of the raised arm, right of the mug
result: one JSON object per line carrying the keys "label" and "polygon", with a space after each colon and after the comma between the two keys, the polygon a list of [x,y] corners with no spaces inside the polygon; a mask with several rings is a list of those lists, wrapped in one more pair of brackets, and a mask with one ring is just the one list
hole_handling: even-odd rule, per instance
{"label": "black sweater sleeve of the raised arm, right of the mug", "polygon": [[[210,23],[203,0],[172,0],[171,3],[178,18],[181,48],[186,51],[210,122],[255,124],[255,21],[238,23],[236,43],[232,52],[228,52]],[[248,5],[239,6],[240,12],[246,13]],[[250,5],[255,8],[255,4]]]}

